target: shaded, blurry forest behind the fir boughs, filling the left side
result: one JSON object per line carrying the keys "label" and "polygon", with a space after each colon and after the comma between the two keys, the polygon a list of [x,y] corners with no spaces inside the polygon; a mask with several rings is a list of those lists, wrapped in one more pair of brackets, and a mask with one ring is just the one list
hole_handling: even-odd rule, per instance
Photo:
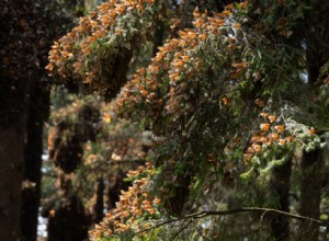
{"label": "shaded, blurry forest behind the fir boughs, filling the left side", "polygon": [[[1,130],[0,203],[10,206],[1,209],[1,240],[36,240],[37,233],[48,240],[88,239],[88,230],[129,185],[125,173],[144,163],[148,131],[118,120],[111,103],[82,97],[73,83],[60,84],[44,70],[54,41],[99,3],[0,4],[1,128],[7,129]],[[8,160],[14,175],[7,172]]]}

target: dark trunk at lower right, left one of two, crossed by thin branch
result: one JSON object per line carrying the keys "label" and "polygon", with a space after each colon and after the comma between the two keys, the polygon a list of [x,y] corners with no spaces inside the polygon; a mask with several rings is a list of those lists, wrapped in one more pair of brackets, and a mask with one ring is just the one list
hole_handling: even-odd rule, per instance
{"label": "dark trunk at lower right, left one of two, crossed by thin branch", "polygon": [[[292,161],[276,167],[272,171],[271,185],[279,195],[280,210],[290,211],[290,180],[292,173]],[[271,228],[276,240],[288,240],[290,219],[284,216],[271,217]]]}

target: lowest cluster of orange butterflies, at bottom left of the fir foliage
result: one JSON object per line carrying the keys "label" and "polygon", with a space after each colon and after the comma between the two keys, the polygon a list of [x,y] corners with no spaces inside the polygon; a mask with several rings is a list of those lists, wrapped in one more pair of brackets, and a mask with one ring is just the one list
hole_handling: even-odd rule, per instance
{"label": "lowest cluster of orange butterflies, at bottom left of the fir foliage", "polygon": [[150,176],[154,174],[154,167],[149,162],[146,167],[129,171],[127,176],[135,179],[133,185],[128,191],[122,191],[116,208],[106,214],[106,218],[89,232],[90,236],[97,239],[149,228],[150,225],[147,221],[141,222],[140,217],[147,219],[158,216],[161,203],[159,198],[147,192]]}

